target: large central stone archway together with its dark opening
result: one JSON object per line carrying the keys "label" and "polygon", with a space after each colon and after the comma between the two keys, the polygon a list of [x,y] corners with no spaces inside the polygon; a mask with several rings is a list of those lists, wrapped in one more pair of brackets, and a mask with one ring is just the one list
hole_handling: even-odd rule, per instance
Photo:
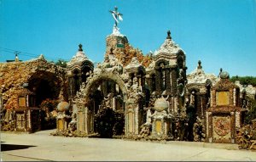
{"label": "large central stone archway together with its dark opening", "polygon": [[125,99],[127,89],[119,75],[104,72],[85,87],[85,106],[90,112],[86,121],[89,133],[99,137],[125,134]]}

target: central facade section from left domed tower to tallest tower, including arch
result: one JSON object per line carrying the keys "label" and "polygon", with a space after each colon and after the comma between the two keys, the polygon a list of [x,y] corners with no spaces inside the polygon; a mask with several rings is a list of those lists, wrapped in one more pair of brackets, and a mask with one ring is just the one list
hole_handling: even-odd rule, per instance
{"label": "central facade section from left domed tower to tallest tower, including arch", "polygon": [[[172,41],[171,32],[167,32],[166,41],[150,59],[145,57],[149,60],[148,67],[143,65],[146,60],[143,54],[131,47],[126,36],[113,33],[106,41],[104,61],[96,68],[81,45],[67,63],[73,135],[96,135],[102,125],[98,121],[104,116],[102,109],[112,109],[113,115],[121,114],[123,118],[108,118],[115,119],[116,123],[124,122],[123,128],[110,129],[119,132],[115,135],[141,138],[142,131],[148,128],[150,139],[186,139],[186,57]],[[162,100],[166,102],[166,109],[155,110],[155,102]],[[57,123],[57,127],[63,126]]]}

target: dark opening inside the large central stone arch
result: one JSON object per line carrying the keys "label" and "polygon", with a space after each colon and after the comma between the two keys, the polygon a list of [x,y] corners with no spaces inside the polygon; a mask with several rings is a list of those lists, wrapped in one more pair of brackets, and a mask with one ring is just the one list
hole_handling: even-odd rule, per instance
{"label": "dark opening inside the large central stone arch", "polygon": [[93,112],[91,126],[99,137],[111,138],[125,133],[124,97],[116,81],[95,81],[89,109]]}

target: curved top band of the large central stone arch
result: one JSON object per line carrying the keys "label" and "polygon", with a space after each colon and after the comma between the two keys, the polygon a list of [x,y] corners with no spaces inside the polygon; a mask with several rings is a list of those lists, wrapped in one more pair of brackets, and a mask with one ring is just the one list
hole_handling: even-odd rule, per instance
{"label": "curved top band of the large central stone arch", "polygon": [[120,90],[123,92],[124,101],[126,101],[129,93],[127,87],[125,86],[125,82],[121,79],[121,77],[112,72],[102,72],[99,75],[94,75],[87,83],[84,89],[85,105],[90,103],[90,92],[94,92],[96,88],[102,83],[102,81],[114,81],[117,85],[119,85]]}

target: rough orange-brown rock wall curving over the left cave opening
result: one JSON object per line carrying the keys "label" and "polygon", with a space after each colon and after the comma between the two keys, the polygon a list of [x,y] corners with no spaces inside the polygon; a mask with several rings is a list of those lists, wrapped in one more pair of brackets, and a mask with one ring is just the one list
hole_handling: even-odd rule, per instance
{"label": "rough orange-brown rock wall curving over the left cave opening", "polygon": [[[52,91],[55,88],[55,97],[63,94],[66,84],[66,71],[53,63],[47,62],[41,55],[38,59],[25,62],[0,63],[0,86],[3,93],[3,109],[17,109],[18,90],[24,83],[49,81]],[[31,91],[37,92],[40,85],[28,85]],[[58,93],[58,94],[57,94]]]}

